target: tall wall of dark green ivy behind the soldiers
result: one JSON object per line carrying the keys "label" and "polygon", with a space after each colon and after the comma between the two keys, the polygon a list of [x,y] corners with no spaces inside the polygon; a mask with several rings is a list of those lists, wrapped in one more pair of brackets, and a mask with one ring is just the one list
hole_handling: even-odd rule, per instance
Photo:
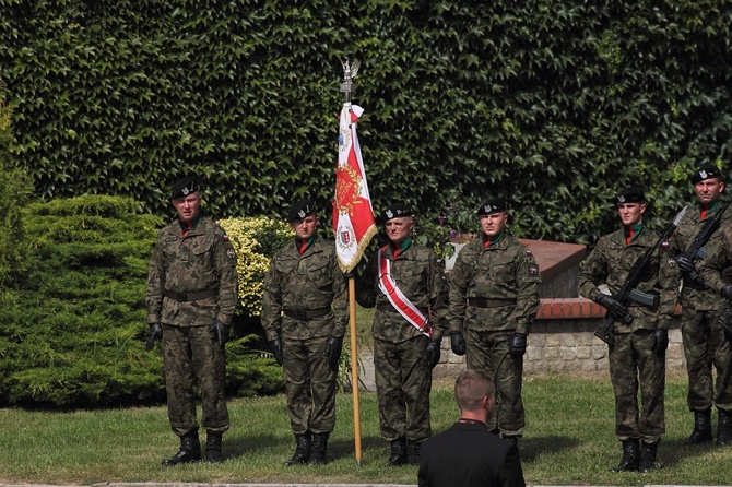
{"label": "tall wall of dark green ivy behind the soldiers", "polygon": [[515,202],[523,237],[592,242],[642,183],[666,218],[729,169],[732,1],[0,0],[14,161],[44,199],[216,217],[332,199],[341,60],[377,210]]}

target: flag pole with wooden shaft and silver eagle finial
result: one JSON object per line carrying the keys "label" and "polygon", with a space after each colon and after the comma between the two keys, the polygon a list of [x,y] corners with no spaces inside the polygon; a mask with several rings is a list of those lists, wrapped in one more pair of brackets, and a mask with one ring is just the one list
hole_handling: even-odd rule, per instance
{"label": "flag pole with wooden shaft and silver eagle finial", "polygon": [[[351,120],[351,94],[356,86],[353,84],[353,76],[358,72],[361,62],[354,59],[351,63],[343,62],[343,83],[341,92],[345,96],[344,109],[349,110],[349,126]],[[361,466],[361,405],[358,401],[358,340],[356,333],[356,283],[352,272],[349,272],[349,330],[351,332],[351,388],[353,390],[353,441],[355,449],[356,465]]]}

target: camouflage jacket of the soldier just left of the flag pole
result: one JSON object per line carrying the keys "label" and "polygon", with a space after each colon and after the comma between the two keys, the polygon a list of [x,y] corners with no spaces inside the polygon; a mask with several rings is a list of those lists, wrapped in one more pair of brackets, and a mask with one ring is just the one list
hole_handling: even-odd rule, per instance
{"label": "camouflage jacket of the soldier just left of the flag pole", "polygon": [[[306,320],[285,313],[323,308],[330,311]],[[268,341],[280,336],[305,340],[345,334],[349,298],[333,243],[316,237],[300,256],[293,240],[272,258],[264,278],[261,321]]]}

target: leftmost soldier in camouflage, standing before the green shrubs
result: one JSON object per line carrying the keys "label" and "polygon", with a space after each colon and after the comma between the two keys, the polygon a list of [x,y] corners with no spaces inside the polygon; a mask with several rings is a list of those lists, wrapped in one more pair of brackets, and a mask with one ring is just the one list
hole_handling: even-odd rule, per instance
{"label": "leftmost soldier in camouflage, standing before the green shrubs", "polygon": [[221,437],[228,430],[224,345],[237,301],[236,253],[224,230],[200,214],[194,178],[175,183],[178,218],[163,228],[150,260],[147,349],[163,340],[168,418],[180,449],[163,465],[201,459],[193,382],[201,390],[209,463],[221,463]]}

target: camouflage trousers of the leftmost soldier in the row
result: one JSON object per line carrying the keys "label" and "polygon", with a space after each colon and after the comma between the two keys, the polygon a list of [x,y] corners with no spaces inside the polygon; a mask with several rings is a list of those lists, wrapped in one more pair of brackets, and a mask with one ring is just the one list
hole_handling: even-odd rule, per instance
{"label": "camouflage trousers of the leftmost soldier in the row", "polygon": [[226,357],[209,326],[163,324],[163,367],[168,419],[176,435],[198,429],[193,390],[197,380],[201,390],[201,426],[212,432],[228,429]]}

